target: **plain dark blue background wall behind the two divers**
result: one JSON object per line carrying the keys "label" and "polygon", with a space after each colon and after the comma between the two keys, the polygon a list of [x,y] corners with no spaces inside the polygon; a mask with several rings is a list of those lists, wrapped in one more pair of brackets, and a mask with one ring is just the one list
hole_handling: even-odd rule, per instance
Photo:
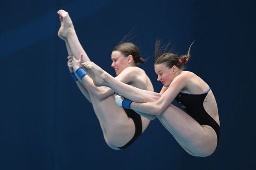
{"label": "plain dark blue background wall behind the two divers", "polygon": [[[67,69],[58,9],[69,12],[91,60],[115,75],[112,49],[132,28],[155,91],[156,37],[172,39],[187,69],[211,87],[221,136],[192,157],[154,120],[125,150],[105,144]],[[255,170],[255,0],[4,0],[0,6],[0,170]],[[254,47],[254,48],[253,48]]]}

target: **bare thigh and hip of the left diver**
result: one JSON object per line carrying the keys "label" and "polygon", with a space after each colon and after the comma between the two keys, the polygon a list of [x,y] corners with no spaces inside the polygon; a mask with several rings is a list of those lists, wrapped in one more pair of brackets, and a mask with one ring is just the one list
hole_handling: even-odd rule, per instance
{"label": "bare thigh and hip of the left diver", "polygon": [[[115,104],[113,95],[100,99],[89,92],[94,112],[100,122],[104,139],[109,147],[118,150],[118,147],[127,144],[135,134],[135,124],[122,107]],[[145,131],[149,120],[141,118],[142,132]]]}

